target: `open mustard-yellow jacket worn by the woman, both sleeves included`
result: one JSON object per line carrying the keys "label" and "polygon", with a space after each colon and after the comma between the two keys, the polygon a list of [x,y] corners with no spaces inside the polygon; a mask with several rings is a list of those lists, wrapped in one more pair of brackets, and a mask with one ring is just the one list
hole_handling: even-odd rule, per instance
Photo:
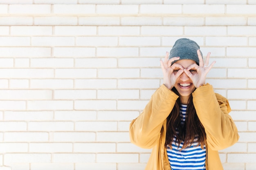
{"label": "open mustard-yellow jacket worn by the woman, both sleeves included", "polygon": [[[206,133],[206,169],[223,170],[218,150],[235,144],[238,131],[229,116],[228,100],[214,93],[209,84],[193,93],[193,104]],[[145,170],[171,170],[166,148],[166,118],[179,96],[162,85],[152,95],[143,112],[130,123],[130,140],[141,148],[153,148]]]}

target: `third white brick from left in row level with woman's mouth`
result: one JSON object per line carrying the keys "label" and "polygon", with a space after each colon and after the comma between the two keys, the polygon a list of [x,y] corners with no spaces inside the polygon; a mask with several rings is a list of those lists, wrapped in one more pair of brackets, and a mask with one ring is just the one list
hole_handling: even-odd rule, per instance
{"label": "third white brick from left in row level with woman's mouth", "polygon": [[30,88],[68,89],[73,88],[72,79],[30,79]]}

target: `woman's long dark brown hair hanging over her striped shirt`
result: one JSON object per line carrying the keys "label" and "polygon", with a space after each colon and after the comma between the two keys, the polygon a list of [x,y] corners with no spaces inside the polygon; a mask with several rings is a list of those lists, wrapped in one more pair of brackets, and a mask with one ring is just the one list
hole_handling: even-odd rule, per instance
{"label": "woman's long dark brown hair hanging over her striped shirt", "polygon": [[[172,91],[179,95],[175,87],[172,88]],[[174,142],[178,144],[178,146],[180,146],[181,142],[184,141],[181,150],[191,146],[196,138],[198,146],[201,144],[201,148],[204,147],[204,144],[206,143],[206,134],[204,131],[204,126],[201,124],[198,115],[196,114],[192,94],[189,97],[187,104],[186,120],[184,125],[181,124],[179,97],[175,102],[173,110],[167,117],[166,128],[165,146],[169,145],[171,148],[173,138],[176,136],[176,141]]]}

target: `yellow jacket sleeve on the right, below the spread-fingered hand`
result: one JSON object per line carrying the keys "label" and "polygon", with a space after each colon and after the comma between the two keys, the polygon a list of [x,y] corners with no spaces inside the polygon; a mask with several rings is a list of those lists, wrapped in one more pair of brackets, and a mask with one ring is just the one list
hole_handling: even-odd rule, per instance
{"label": "yellow jacket sleeve on the right, below the spread-fingered hand", "polygon": [[222,150],[235,144],[239,135],[229,115],[228,100],[214,93],[209,84],[200,86],[192,95],[196,113],[206,132],[207,145],[212,150]]}

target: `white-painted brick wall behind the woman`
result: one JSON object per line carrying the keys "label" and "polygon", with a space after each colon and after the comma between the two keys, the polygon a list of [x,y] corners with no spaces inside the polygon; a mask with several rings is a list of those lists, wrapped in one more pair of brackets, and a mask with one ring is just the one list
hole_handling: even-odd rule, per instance
{"label": "white-painted brick wall behind the woman", "polygon": [[239,130],[224,169],[255,170],[255,30],[255,0],[0,0],[0,170],[143,170],[128,126],[182,37]]}

